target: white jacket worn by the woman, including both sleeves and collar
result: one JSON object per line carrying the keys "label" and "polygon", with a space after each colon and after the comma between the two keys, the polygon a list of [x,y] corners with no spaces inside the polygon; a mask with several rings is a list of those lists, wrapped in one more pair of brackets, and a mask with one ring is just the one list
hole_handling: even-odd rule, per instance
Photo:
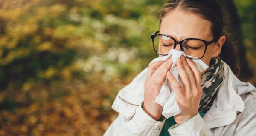
{"label": "white jacket worn by the woman, including both sleeves and collar", "polygon": [[[145,74],[148,68],[140,74]],[[212,107],[177,127],[171,136],[256,136],[256,88],[241,82],[224,63],[224,80]],[[145,76],[135,79],[144,85]],[[126,86],[116,96],[112,108],[119,113],[104,136],[158,136],[164,121],[155,121],[141,107],[144,88]],[[136,90],[136,91],[134,91]],[[141,90],[141,91],[138,91]]]}

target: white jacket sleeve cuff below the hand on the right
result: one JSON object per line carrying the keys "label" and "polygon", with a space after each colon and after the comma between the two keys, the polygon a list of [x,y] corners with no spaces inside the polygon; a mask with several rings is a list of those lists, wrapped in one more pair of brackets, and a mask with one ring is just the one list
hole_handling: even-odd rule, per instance
{"label": "white jacket sleeve cuff below the hand on the right", "polygon": [[199,113],[179,126],[173,125],[168,132],[171,136],[213,136]]}

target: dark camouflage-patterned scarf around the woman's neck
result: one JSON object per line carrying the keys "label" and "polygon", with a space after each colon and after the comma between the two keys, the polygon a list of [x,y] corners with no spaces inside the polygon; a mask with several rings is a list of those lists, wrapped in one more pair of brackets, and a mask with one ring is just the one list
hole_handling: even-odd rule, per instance
{"label": "dark camouflage-patterned scarf around the woman's neck", "polygon": [[223,62],[220,57],[211,59],[209,68],[202,75],[203,94],[200,101],[199,112],[206,113],[212,106],[217,96],[218,89],[221,86],[224,77]]}

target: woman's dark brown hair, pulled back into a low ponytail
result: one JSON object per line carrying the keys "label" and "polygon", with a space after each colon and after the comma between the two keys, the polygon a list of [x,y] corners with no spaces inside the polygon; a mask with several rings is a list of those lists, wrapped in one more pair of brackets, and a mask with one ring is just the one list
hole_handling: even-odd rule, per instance
{"label": "woman's dark brown hair, pulled back into a low ponytail", "polygon": [[160,24],[166,13],[175,8],[180,8],[183,11],[191,11],[209,20],[212,24],[211,31],[213,37],[226,36],[226,41],[221,48],[219,57],[230,66],[234,74],[238,75],[237,48],[230,34],[224,30],[223,14],[216,0],[169,0],[160,10]]}

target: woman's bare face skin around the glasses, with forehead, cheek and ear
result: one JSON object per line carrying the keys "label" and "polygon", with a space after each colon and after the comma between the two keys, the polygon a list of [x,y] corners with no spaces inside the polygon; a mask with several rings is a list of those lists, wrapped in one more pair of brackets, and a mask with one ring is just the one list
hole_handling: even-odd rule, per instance
{"label": "woman's bare face skin around the glasses, with forehead, cheek and ear", "polygon": [[[170,35],[178,41],[186,38],[198,38],[206,41],[213,39],[210,21],[203,19],[198,14],[185,12],[179,8],[169,11],[163,17],[160,34]],[[218,42],[207,46],[207,51],[201,60],[209,65],[211,58],[220,54],[224,42],[225,36],[222,36]],[[175,49],[180,50],[180,45],[178,44]]]}

